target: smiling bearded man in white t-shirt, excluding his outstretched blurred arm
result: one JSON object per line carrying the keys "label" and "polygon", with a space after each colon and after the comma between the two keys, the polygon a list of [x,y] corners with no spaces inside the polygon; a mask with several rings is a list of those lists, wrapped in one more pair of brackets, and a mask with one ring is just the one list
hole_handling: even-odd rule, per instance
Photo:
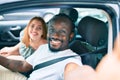
{"label": "smiling bearded man in white t-shirt, excluding his outstretched blurred arm", "polygon": [[[47,36],[48,44],[41,45],[26,61],[10,60],[0,56],[0,65],[18,72],[33,70],[28,80],[63,80],[64,68],[67,63],[74,62],[82,65],[81,58],[69,49],[69,42],[74,36],[72,20],[65,14],[54,16],[48,23]],[[63,56],[74,57],[34,70],[37,64]],[[75,66],[72,67],[74,68]]]}

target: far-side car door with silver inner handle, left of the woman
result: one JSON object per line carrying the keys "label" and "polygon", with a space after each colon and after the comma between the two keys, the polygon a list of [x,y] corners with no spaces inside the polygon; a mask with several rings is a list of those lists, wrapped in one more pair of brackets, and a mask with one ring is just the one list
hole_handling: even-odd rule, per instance
{"label": "far-side car door with silver inner handle, left of the woman", "polygon": [[11,13],[0,15],[0,49],[16,45],[25,26],[26,24],[18,21]]}

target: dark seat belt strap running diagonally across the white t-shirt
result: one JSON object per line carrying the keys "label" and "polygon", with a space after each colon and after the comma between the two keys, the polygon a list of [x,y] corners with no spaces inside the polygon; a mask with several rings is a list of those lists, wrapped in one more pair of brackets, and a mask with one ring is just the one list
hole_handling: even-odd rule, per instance
{"label": "dark seat belt strap running diagonally across the white t-shirt", "polygon": [[46,62],[43,62],[43,63],[40,63],[40,64],[36,65],[33,70],[44,68],[44,67],[47,67],[49,65],[55,64],[57,62],[63,61],[65,59],[67,59],[67,58],[71,58],[71,57],[75,57],[75,56],[79,56],[79,55],[65,56],[65,57],[52,59],[52,60],[49,60],[49,61],[46,61]]}

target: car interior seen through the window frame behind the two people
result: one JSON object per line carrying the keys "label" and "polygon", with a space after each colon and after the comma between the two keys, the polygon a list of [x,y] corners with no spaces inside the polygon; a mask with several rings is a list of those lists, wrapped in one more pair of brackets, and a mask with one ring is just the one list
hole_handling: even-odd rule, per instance
{"label": "car interior seen through the window frame behind the two people", "polygon": [[[50,12],[50,10],[54,12]],[[98,15],[89,13],[89,11],[94,10],[97,11],[96,14]],[[75,24],[75,37],[70,43],[70,48],[81,56],[83,64],[87,64],[95,68],[97,63],[107,53],[107,18],[105,14],[100,13],[99,9],[51,8],[43,10],[28,10],[27,12],[31,13],[31,15],[27,15],[27,12],[22,13],[23,11],[13,11],[13,13],[3,14],[4,18],[0,21],[0,26],[2,26],[0,27],[0,30],[2,30],[0,33],[0,48],[5,46],[14,46],[17,44],[19,42],[20,32],[24,29],[27,22],[33,16],[42,16],[46,20],[47,24],[49,19],[54,15],[58,13],[65,13],[73,20]],[[44,13],[41,13],[41,11],[44,11]],[[89,14],[83,15],[85,13]],[[7,22],[8,24],[6,24]],[[4,31],[3,28],[5,28]]]}

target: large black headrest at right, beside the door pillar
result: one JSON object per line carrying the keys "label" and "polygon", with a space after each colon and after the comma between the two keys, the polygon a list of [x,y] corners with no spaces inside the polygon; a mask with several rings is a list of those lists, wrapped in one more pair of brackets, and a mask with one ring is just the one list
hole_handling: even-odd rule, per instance
{"label": "large black headrest at right, beside the door pillar", "polygon": [[103,46],[107,42],[107,25],[96,18],[86,16],[78,23],[78,33],[92,46]]}

